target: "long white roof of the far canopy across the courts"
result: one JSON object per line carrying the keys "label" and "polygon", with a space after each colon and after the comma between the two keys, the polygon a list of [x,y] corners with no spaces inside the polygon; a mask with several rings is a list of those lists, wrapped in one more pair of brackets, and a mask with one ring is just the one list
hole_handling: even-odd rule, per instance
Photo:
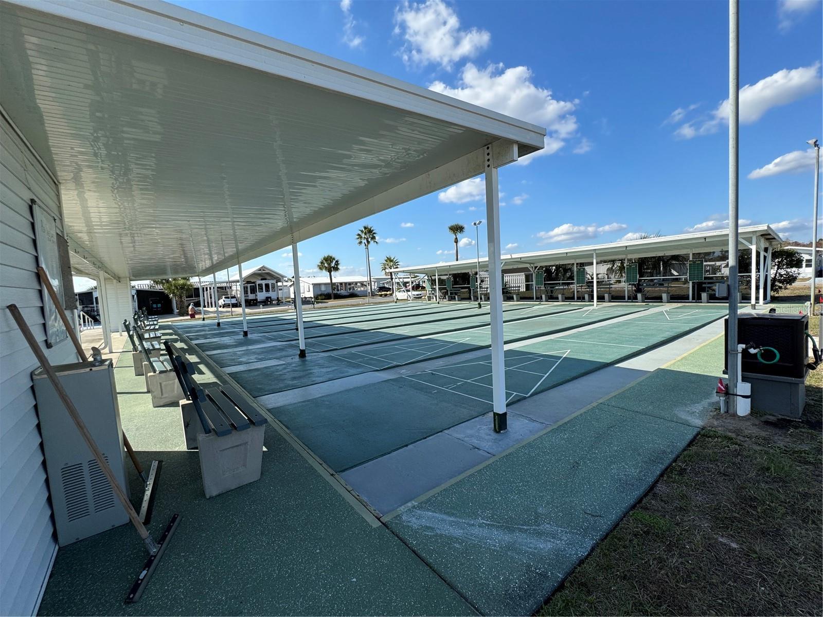
{"label": "long white roof of the far canopy across the courts", "polygon": [[[780,242],[779,234],[769,225],[748,225],[740,228],[741,248],[746,248],[751,237],[767,245]],[[551,266],[573,262],[591,262],[593,252],[597,252],[597,261],[614,259],[658,257],[663,255],[682,255],[688,253],[708,253],[728,249],[728,230],[708,231],[696,234],[678,234],[593,244],[584,247],[555,248],[549,251],[533,253],[512,253],[503,255],[501,261],[504,269],[523,266]],[[480,258],[481,269],[486,267],[486,257]],[[477,270],[477,257],[459,262],[430,263],[421,266],[403,266],[395,272],[419,272],[425,274],[449,274],[450,272],[467,272]]]}

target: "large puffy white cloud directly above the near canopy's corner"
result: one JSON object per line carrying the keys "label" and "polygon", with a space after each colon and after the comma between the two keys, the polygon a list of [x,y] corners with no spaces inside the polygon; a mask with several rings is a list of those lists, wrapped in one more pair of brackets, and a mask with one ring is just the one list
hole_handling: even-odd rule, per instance
{"label": "large puffy white cloud directly above the near canopy's corner", "polygon": [[528,165],[534,156],[554,154],[578,130],[577,118],[572,112],[579,101],[556,100],[551,90],[532,83],[532,72],[528,67],[505,68],[503,64],[490,64],[481,69],[467,63],[460,72],[457,86],[435,81],[429,88],[546,127],[546,147],[523,157],[518,161],[522,165]]}

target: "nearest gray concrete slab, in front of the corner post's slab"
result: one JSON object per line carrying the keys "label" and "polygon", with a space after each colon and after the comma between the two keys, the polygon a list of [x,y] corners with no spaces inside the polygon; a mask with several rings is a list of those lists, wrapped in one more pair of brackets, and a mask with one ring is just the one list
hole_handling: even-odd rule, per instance
{"label": "nearest gray concrete slab, in front of the corner post's slab", "polygon": [[439,433],[340,476],[375,510],[388,514],[489,458],[488,452]]}

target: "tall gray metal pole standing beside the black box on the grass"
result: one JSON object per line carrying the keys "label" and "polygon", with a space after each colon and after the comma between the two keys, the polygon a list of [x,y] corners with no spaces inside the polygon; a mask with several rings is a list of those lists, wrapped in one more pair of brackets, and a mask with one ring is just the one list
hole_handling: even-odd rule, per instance
{"label": "tall gray metal pole standing beside the black box on the grass", "polygon": [[740,26],[739,0],[728,2],[728,336],[726,353],[728,356],[728,405],[729,414],[737,415],[737,239],[739,226],[737,214],[737,187],[739,183],[737,165],[739,151],[737,144],[740,111]]}

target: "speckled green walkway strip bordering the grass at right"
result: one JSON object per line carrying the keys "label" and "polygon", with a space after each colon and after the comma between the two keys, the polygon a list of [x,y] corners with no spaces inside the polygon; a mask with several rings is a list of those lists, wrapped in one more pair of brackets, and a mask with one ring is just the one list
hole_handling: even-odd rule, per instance
{"label": "speckled green walkway strip bordering the grass at right", "polygon": [[388,526],[481,613],[531,614],[694,437],[716,406],[722,365],[720,339],[414,503]]}

